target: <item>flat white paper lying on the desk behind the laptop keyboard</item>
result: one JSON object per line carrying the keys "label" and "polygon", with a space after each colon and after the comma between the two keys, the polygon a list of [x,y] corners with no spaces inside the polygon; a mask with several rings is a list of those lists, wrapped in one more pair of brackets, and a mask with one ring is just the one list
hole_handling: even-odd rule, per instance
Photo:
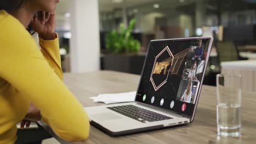
{"label": "flat white paper lying on the desk behind the laptop keyboard", "polygon": [[105,104],[124,103],[135,100],[136,92],[99,94],[97,97],[90,97],[94,102]]}

